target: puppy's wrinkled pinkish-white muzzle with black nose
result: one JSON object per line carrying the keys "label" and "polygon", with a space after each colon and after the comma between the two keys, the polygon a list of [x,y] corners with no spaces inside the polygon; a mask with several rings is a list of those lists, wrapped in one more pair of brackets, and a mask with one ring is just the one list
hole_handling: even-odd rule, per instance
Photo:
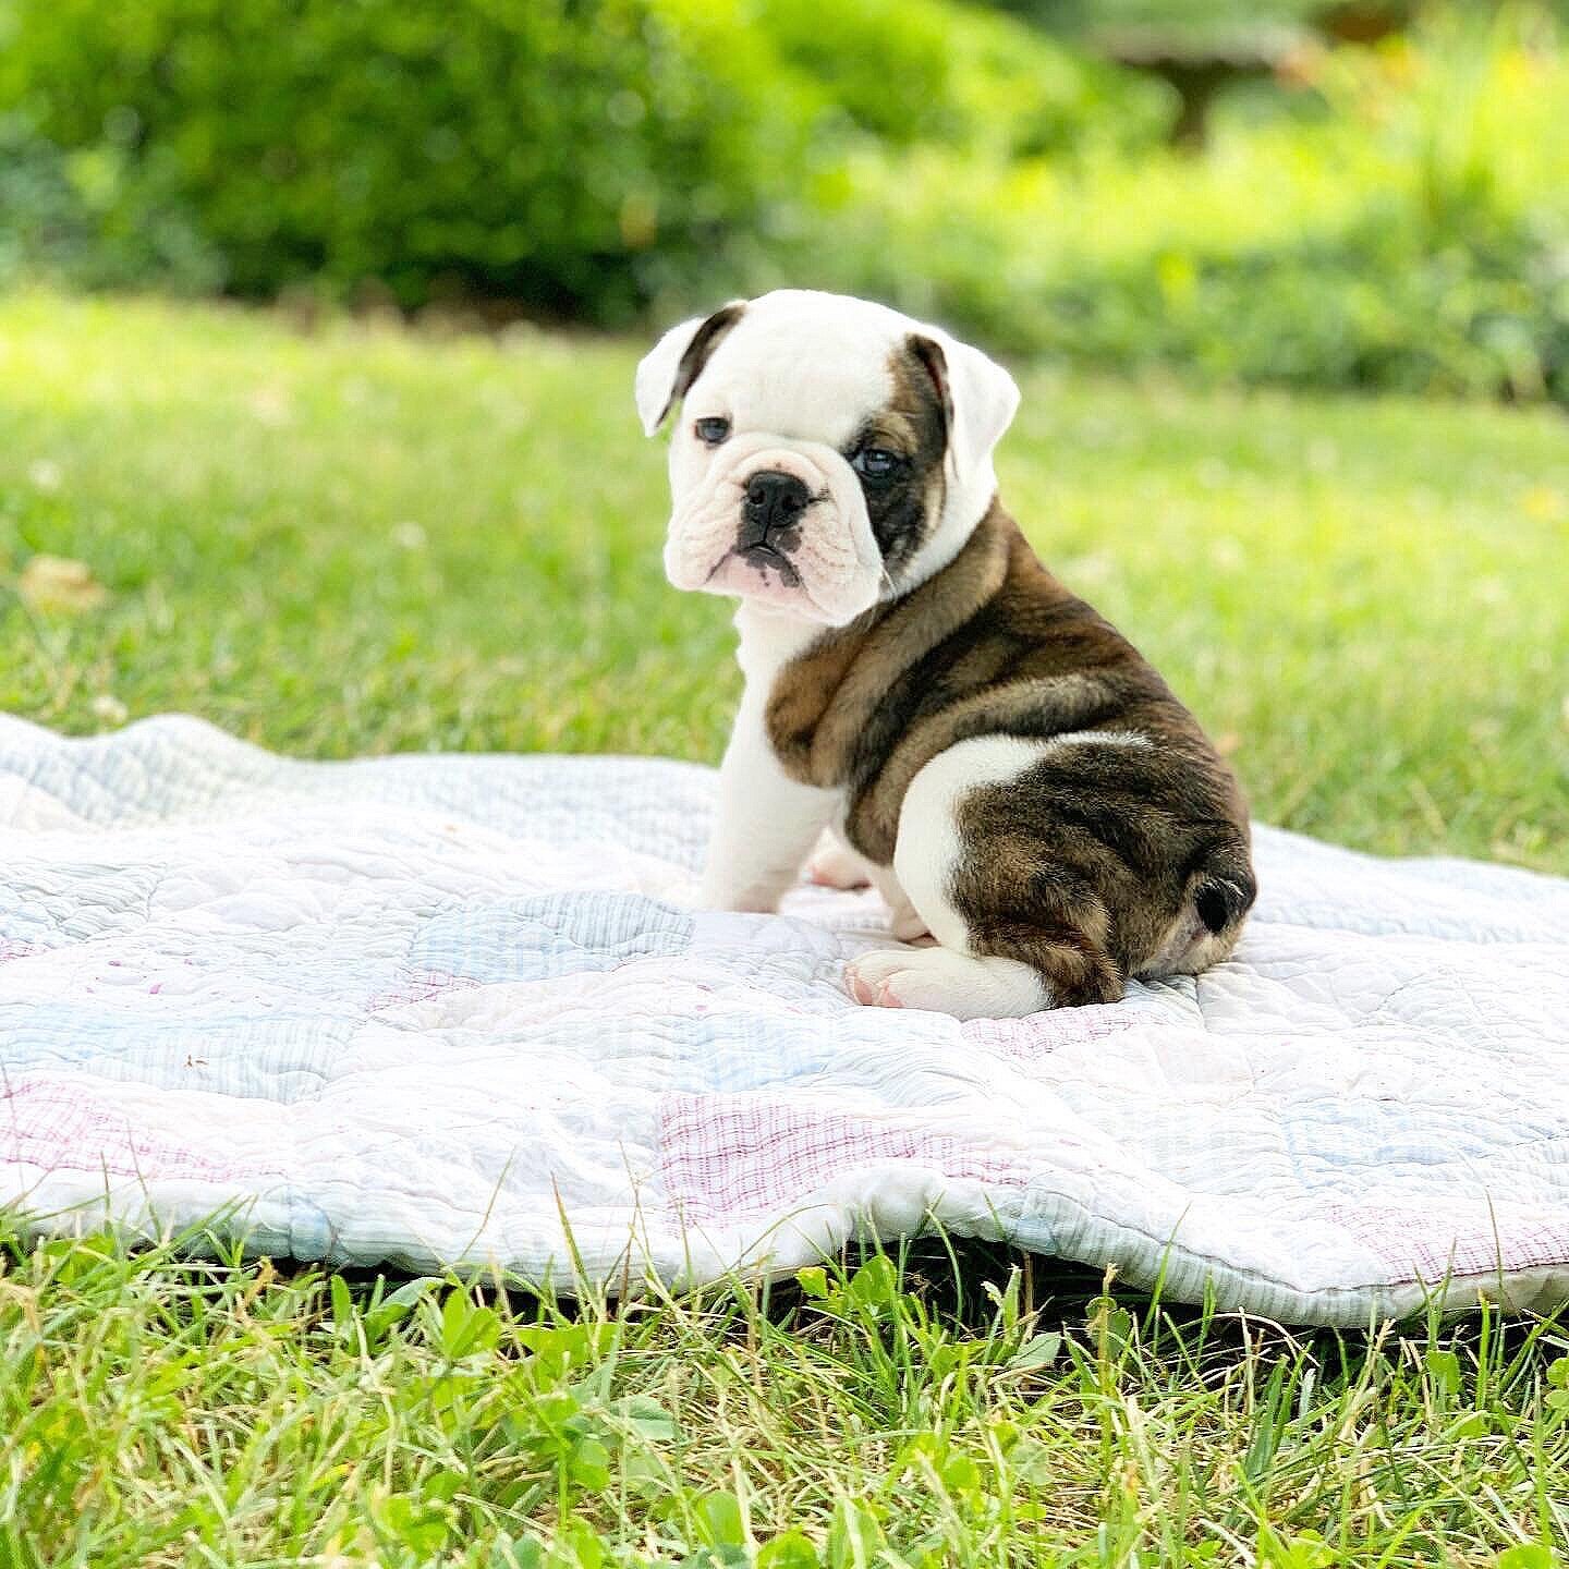
{"label": "puppy's wrinkled pinkish-white muzzle with black nose", "polygon": [[850,466],[832,447],[737,436],[676,482],[665,574],[843,626],[877,602],[882,552]]}

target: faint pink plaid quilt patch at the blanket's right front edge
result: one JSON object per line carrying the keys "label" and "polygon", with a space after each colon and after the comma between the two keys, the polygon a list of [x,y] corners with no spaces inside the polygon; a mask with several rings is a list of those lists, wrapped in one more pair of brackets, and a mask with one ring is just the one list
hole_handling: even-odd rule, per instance
{"label": "faint pink plaid quilt patch at the blanket's right front edge", "polygon": [[1395,1282],[1439,1285],[1450,1276],[1569,1265],[1569,1213],[1555,1224],[1544,1224],[1541,1210],[1461,1200],[1368,1205],[1363,1210],[1332,1205],[1326,1219],[1382,1258]]}

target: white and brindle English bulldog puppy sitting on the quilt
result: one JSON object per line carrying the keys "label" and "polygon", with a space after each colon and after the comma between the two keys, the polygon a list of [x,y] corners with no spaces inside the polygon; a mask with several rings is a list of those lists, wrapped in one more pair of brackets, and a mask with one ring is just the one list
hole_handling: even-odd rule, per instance
{"label": "white and brindle English bulldog puppy sitting on the quilt", "polygon": [[1230,954],[1255,893],[1236,780],[1004,511],[1001,366],[788,289],[672,328],[635,392],[650,436],[684,405],[670,582],[741,601],[706,905],[774,910],[822,838],[816,880],[871,880],[894,937],[935,938],[855,959],[849,993],[959,1018]]}

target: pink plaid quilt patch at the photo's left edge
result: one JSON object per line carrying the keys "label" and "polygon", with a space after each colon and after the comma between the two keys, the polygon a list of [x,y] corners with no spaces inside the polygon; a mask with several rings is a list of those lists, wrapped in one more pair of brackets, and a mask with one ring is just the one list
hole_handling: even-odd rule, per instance
{"label": "pink plaid quilt patch at the photo's left edge", "polygon": [[22,1079],[0,1095],[0,1163],[46,1170],[104,1170],[111,1177],[190,1177],[228,1181],[232,1164],[209,1159],[185,1144],[138,1131],[111,1109],[58,1079]]}

